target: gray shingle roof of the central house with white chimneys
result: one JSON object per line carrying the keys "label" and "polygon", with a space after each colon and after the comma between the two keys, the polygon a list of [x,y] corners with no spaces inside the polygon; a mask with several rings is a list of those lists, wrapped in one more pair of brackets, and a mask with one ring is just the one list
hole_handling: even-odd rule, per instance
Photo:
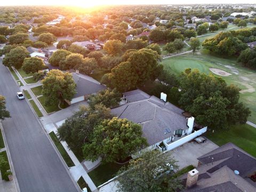
{"label": "gray shingle roof of the central house with white chimneys", "polygon": [[154,145],[171,137],[175,130],[188,129],[187,119],[181,115],[183,110],[171,103],[165,103],[155,96],[150,97],[141,90],[123,94],[126,99],[128,98],[127,100],[133,102],[113,108],[111,113],[119,118],[126,118],[134,123],[139,123],[142,126],[143,137],[147,138],[149,145]]}

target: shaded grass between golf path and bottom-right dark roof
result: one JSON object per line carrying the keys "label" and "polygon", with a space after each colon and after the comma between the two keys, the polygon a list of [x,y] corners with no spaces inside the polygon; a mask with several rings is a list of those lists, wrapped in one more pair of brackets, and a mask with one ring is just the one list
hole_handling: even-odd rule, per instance
{"label": "shaded grass between golf path and bottom-right dark roof", "polygon": [[227,131],[214,130],[214,133],[212,133],[212,130],[207,130],[206,137],[218,146],[232,142],[256,157],[256,128],[250,125],[233,125]]}

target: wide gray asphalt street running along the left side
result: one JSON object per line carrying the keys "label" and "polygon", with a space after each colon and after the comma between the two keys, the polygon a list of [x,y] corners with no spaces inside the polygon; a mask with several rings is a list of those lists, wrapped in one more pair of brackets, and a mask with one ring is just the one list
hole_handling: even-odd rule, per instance
{"label": "wide gray asphalt street running along the left side", "polygon": [[0,94],[12,116],[3,127],[21,192],[77,191],[27,101],[18,100],[18,91],[0,60]]}

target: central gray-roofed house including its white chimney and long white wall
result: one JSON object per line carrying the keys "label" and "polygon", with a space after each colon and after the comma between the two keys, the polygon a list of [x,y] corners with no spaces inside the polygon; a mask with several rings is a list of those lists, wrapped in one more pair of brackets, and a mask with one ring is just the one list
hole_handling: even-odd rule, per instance
{"label": "central gray-roofed house including its white chimney and long white wall", "polygon": [[[186,118],[182,109],[141,90],[125,92],[123,98],[127,103],[111,109],[111,113],[140,124],[149,149],[172,150],[207,130],[204,127],[192,133],[194,117]],[[162,142],[164,147],[159,147]]]}

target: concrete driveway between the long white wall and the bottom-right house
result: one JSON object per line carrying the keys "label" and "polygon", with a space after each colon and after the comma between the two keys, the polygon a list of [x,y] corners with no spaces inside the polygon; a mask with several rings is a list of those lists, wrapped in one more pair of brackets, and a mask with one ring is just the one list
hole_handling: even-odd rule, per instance
{"label": "concrete driveway between the long white wall and the bottom-right house", "polygon": [[174,159],[178,161],[177,164],[179,165],[179,169],[182,169],[188,165],[194,165],[197,167],[198,157],[209,153],[218,147],[218,145],[207,139],[205,143],[197,143],[195,141],[187,142],[168,153],[170,153],[170,155],[172,155]]}

